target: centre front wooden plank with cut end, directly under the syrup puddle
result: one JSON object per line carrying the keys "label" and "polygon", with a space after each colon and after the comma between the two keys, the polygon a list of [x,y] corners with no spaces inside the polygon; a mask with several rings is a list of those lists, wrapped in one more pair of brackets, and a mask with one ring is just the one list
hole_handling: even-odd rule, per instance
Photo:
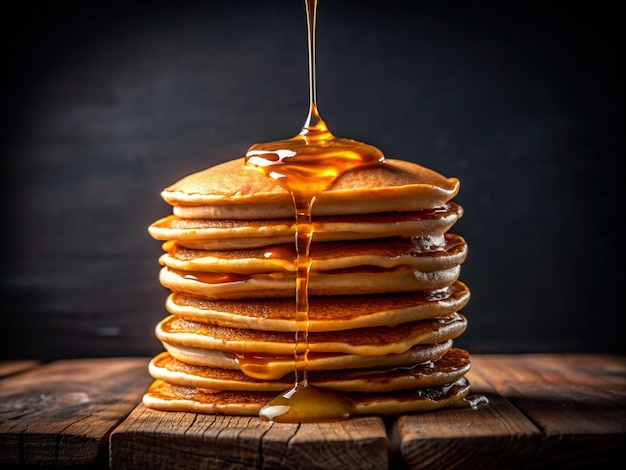
{"label": "centre front wooden plank with cut end, directly under the syrup puddle", "polygon": [[111,434],[110,455],[116,469],[388,468],[385,424],[377,417],[270,424],[143,405]]}

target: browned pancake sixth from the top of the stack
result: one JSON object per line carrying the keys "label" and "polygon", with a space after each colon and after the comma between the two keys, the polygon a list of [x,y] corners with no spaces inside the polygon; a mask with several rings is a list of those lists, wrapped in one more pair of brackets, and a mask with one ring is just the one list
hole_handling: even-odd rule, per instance
{"label": "browned pancake sixth from the top of the stack", "polygon": [[[417,344],[435,344],[456,338],[466,327],[465,317],[453,313],[403,323],[394,328],[383,326],[309,333],[309,351],[362,356],[400,354]],[[295,346],[292,333],[221,327],[176,316],[162,320],[157,325],[156,336],[166,344],[269,356],[293,356]]]}

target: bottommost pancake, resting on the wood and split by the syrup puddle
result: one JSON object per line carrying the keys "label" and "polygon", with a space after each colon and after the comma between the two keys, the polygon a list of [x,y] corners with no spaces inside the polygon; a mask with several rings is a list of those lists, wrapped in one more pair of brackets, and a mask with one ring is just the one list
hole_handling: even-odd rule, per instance
{"label": "bottommost pancake, resting on the wood and split by the syrup puddle", "polygon": [[[450,406],[467,396],[465,377],[442,387],[387,393],[346,393],[352,402],[351,415],[398,415]],[[275,392],[217,391],[181,387],[156,380],[143,397],[149,408],[163,411],[255,416],[276,395]]]}

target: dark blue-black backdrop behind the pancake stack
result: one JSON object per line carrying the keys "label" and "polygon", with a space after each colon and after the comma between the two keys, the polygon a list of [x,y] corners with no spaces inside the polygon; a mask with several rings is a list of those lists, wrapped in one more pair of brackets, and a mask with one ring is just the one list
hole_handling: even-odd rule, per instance
{"label": "dark blue-black backdrop behind the pancake stack", "polygon": [[[624,352],[616,8],[320,3],[333,133],[461,180],[471,352]],[[155,354],[159,193],[300,130],[303,1],[26,1],[3,22],[0,359]]]}

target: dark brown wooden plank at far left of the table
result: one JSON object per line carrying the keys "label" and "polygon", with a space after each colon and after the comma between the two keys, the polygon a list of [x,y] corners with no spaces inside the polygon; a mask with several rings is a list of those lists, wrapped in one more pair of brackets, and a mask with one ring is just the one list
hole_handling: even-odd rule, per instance
{"label": "dark brown wooden plank at far left of the table", "polygon": [[111,429],[150,383],[147,360],[58,361],[0,381],[0,463],[106,459]]}

